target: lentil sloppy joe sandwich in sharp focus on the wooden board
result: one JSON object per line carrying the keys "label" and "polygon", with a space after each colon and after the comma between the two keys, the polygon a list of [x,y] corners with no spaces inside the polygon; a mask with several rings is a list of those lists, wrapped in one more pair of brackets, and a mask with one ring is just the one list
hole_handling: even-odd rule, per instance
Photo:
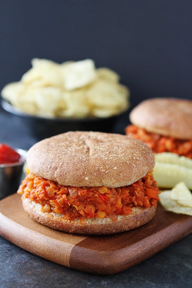
{"label": "lentil sloppy joe sandwich in sharp focus on the wooden board", "polygon": [[112,234],[139,227],[155,214],[154,153],[120,134],[67,132],[27,152],[19,187],[35,221],[79,234]]}

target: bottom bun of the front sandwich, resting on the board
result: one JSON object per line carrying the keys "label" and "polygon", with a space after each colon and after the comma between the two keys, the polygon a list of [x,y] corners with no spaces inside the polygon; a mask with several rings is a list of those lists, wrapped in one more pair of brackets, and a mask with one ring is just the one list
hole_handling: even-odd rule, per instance
{"label": "bottom bun of the front sandwich, resting on the board", "polygon": [[53,212],[41,212],[42,206],[29,198],[22,199],[24,210],[36,222],[47,227],[69,233],[105,235],[128,231],[149,222],[155,214],[156,207],[135,207],[130,215],[118,215],[116,221],[109,217],[103,219],[74,219],[67,220],[62,214]]}

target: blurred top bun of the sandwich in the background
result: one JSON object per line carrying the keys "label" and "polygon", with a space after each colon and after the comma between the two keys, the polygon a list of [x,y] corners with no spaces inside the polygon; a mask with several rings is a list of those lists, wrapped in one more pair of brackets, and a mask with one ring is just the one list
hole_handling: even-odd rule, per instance
{"label": "blurred top bun of the sandwich in the background", "polygon": [[139,103],[130,113],[132,124],[148,132],[178,139],[192,139],[192,101],[152,98]]}

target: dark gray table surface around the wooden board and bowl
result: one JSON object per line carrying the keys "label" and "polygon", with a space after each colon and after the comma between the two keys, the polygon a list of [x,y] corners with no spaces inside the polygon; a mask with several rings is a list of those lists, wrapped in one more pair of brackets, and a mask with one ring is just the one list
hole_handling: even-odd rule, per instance
{"label": "dark gray table surface around the wooden board and bowl", "polygon": [[[123,133],[124,115],[114,128]],[[36,142],[25,122],[0,108],[0,142],[29,149]],[[0,287],[192,287],[192,234],[119,274],[82,273],[35,256],[0,237]]]}

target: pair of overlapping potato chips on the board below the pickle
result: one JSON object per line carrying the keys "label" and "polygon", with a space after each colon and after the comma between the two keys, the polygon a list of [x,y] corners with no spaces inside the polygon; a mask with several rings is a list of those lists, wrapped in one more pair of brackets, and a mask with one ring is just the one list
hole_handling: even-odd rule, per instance
{"label": "pair of overlapping potato chips on the board below the pickle", "polygon": [[167,211],[192,216],[192,194],[184,182],[180,182],[172,190],[162,191],[160,203]]}

